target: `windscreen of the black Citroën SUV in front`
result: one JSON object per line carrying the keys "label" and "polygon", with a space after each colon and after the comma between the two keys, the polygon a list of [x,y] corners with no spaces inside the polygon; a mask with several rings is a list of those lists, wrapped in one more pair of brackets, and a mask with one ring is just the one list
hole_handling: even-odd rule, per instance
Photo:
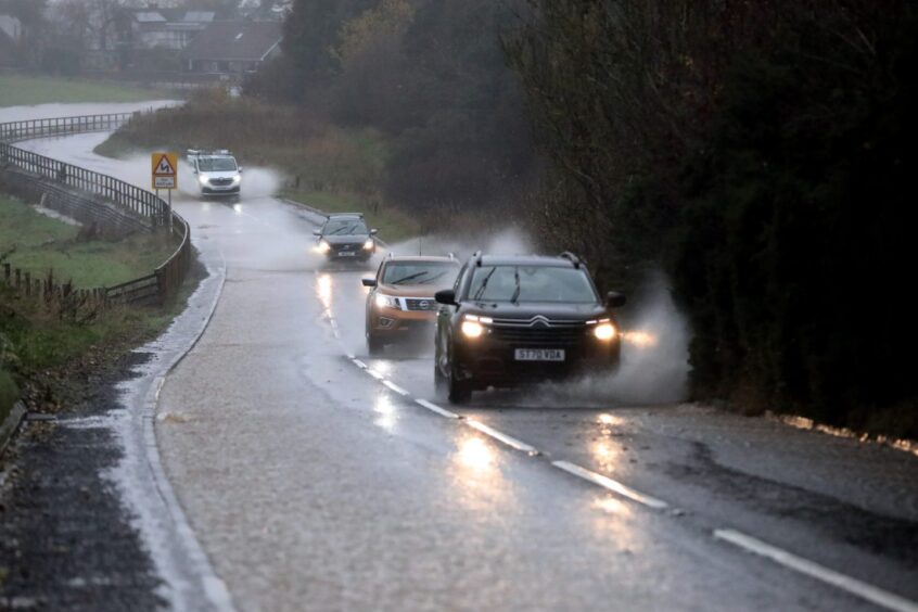
{"label": "windscreen of the black Citro\u00ebn SUV in front", "polygon": [[551,266],[482,266],[469,285],[475,302],[599,302],[586,272]]}

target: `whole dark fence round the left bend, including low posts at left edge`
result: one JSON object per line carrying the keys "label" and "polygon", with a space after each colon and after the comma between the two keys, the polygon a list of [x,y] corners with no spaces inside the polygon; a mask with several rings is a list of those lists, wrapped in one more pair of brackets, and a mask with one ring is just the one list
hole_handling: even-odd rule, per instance
{"label": "whole dark fence round the left bend, including low posts at left edge", "polygon": [[47,279],[33,279],[28,272],[4,264],[3,280],[21,295],[58,301],[62,306],[82,304],[105,308],[112,304],[162,303],[178,291],[191,264],[191,229],[164,200],[114,177],[10,144],[31,138],[111,130],[132,116],[113,113],[0,124],[0,173],[26,186],[33,195],[40,193],[71,216],[78,216],[74,211],[82,209],[100,224],[139,222],[149,231],[168,231],[176,244],[169,258],[151,275],[110,288],[78,290],[71,283],[54,282],[50,275]]}

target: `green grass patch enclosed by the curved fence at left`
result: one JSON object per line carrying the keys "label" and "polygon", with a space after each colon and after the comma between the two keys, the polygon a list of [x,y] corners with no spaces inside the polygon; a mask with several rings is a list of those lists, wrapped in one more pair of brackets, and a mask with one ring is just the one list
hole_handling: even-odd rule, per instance
{"label": "green grass patch enclosed by the curved fence at left", "polygon": [[37,213],[24,202],[0,194],[0,254],[14,268],[78,288],[113,286],[151,273],[175,245],[162,234],[137,233],[120,241],[82,240],[79,228]]}

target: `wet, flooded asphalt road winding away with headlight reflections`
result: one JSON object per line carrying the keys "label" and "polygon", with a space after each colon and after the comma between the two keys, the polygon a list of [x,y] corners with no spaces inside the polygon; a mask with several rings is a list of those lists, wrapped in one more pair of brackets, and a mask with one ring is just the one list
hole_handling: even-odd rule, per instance
{"label": "wet, flooded asphalt road winding away with headlight reflections", "polygon": [[[145,160],[89,153],[103,138],[28,145],[145,184]],[[169,481],[238,609],[915,605],[918,457],[569,387],[449,407],[429,354],[366,355],[360,277],[372,267],[323,266],[309,215],[252,170],[238,203],[175,199],[226,282],[166,379],[156,425]],[[821,569],[754,554],[735,533]],[[832,571],[860,583],[831,586]]]}

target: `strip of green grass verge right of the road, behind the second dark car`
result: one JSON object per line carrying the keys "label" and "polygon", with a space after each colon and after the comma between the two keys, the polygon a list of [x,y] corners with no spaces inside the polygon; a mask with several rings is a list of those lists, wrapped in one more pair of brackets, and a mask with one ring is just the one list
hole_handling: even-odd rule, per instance
{"label": "strip of green grass verge right of the road, behind the second dark car", "polygon": [[400,242],[420,233],[420,225],[410,216],[358,194],[285,190],[283,196],[326,213],[362,213],[370,227],[379,230],[379,237],[390,243]]}

